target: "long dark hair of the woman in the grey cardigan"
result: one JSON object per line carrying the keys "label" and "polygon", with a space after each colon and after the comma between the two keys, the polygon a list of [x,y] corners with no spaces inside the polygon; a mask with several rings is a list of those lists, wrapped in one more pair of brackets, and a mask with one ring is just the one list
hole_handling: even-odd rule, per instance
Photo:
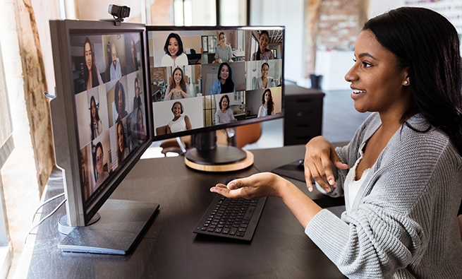
{"label": "long dark hair of the woman in the grey cardigan", "polygon": [[399,69],[408,67],[414,104],[401,123],[420,112],[462,153],[462,62],[454,25],[427,8],[402,7],[368,20],[363,30],[396,55]]}

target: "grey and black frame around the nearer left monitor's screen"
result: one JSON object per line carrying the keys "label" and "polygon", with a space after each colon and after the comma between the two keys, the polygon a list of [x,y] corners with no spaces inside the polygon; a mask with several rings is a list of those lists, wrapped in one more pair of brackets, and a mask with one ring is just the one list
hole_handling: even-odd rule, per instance
{"label": "grey and black frame around the nearer left monitor's screen", "polygon": [[[64,189],[67,198],[68,225],[73,227],[87,225],[99,208],[115,191],[131,168],[140,159],[142,153],[149,148],[152,131],[152,106],[148,92],[149,80],[147,69],[147,32],[145,25],[137,23],[122,23],[115,25],[114,21],[88,20],[50,20],[51,43],[53,49],[54,68],[56,75],[56,96],[51,100],[51,121],[55,141],[56,165],[64,170]],[[80,172],[80,144],[78,139],[77,112],[75,107],[75,88],[73,86],[71,36],[73,35],[111,35],[139,33],[142,47],[141,64],[143,69],[143,91],[145,103],[145,119],[147,136],[145,140],[132,151],[126,162],[103,183],[104,190],[95,199],[85,204],[85,194],[82,186],[83,178]],[[53,115],[55,117],[53,117]],[[63,129],[67,131],[63,135]]]}

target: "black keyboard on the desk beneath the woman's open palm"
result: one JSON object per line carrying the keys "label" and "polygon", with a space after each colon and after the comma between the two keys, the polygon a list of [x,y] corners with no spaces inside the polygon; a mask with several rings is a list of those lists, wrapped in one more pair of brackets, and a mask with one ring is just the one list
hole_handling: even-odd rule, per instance
{"label": "black keyboard on the desk beneath the woman's open palm", "polygon": [[217,194],[193,232],[250,241],[266,201],[266,197],[246,200]]}

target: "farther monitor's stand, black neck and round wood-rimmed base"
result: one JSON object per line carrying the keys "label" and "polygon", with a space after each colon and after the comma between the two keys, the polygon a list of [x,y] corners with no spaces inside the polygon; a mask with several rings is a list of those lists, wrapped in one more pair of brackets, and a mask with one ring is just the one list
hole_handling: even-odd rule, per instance
{"label": "farther monitor's stand, black neck and round wood-rimmed base", "polygon": [[185,155],[185,163],[204,172],[232,172],[253,165],[253,153],[234,146],[217,145],[215,131],[193,135],[195,148]]}

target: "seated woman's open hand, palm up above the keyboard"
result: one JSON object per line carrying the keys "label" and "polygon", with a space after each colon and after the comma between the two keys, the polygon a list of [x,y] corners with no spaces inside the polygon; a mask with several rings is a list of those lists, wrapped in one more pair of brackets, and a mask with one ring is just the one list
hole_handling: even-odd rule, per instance
{"label": "seated woman's open hand, palm up above the keyboard", "polygon": [[221,194],[227,198],[260,198],[262,196],[280,197],[279,190],[286,179],[271,172],[253,174],[250,177],[234,179],[228,185],[217,184],[210,188],[211,192]]}

